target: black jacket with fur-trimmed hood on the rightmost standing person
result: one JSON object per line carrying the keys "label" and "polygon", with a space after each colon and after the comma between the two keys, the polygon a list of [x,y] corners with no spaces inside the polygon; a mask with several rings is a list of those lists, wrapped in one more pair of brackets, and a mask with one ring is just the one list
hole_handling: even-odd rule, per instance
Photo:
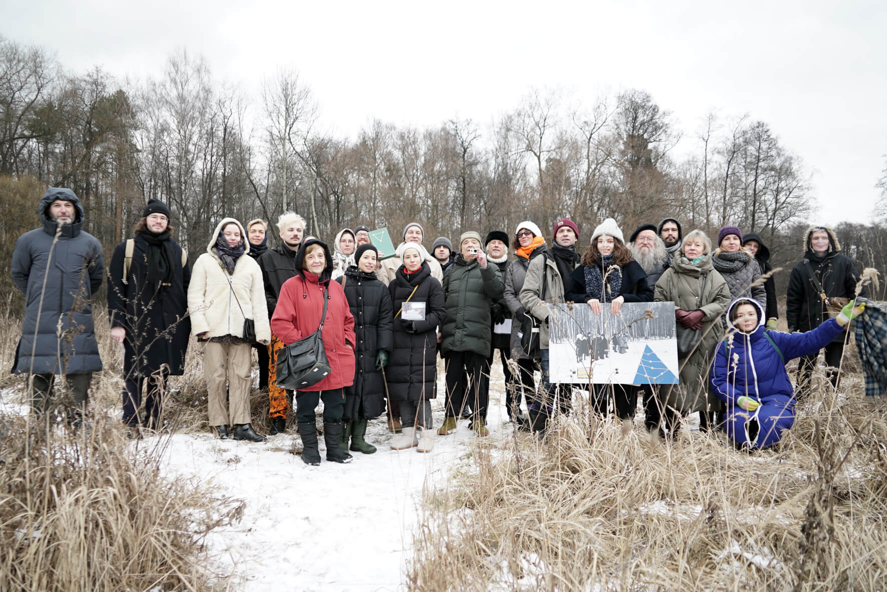
{"label": "black jacket with fur-trimmed hood on the rightmost standing person", "polygon": [[[841,253],[841,245],[835,233],[828,231],[828,252],[820,256],[810,246],[810,238],[817,227],[807,230],[804,238],[804,259],[798,261],[789,276],[789,289],[785,300],[785,320],[791,331],[810,331],[828,319],[828,305],[820,298],[817,280],[829,298],[853,298],[860,275],[853,261]],[[815,278],[815,279],[814,279]],[[865,296],[863,289],[860,296]],[[836,341],[844,339],[839,335]]]}

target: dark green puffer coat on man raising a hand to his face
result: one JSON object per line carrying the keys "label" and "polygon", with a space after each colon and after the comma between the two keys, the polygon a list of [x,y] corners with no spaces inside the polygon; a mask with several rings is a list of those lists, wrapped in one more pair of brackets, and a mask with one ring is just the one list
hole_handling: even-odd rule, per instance
{"label": "dark green puffer coat on man raising a hand to his face", "polygon": [[443,318],[441,350],[472,352],[487,357],[492,340],[490,306],[505,291],[498,265],[465,261],[456,255],[443,277],[446,316]]}

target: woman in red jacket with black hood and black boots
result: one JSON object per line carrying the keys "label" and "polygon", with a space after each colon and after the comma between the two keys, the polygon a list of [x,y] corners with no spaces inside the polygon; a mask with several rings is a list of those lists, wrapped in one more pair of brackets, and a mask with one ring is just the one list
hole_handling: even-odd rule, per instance
{"label": "woman in red jacket with black hood and black boots", "polygon": [[341,284],[331,282],[333,258],[329,248],[317,238],[302,242],[295,255],[296,275],[280,288],[277,307],[271,316],[271,330],[287,346],[318,330],[327,293],[326,321],[321,332],[330,372],[316,385],[295,393],[295,417],[302,436],[302,460],[319,464],[318,432],[314,410],[324,401],[324,440],[326,460],[348,463],[351,455],[339,446],[341,417],[345,404],[342,390],[354,382],[354,316]]}

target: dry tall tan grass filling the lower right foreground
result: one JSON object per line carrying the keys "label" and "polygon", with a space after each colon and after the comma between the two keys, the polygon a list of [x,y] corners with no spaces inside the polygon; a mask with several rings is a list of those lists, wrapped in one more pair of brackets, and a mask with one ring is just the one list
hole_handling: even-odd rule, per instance
{"label": "dry tall tan grass filling the lower right foreground", "polygon": [[[821,378],[821,377],[820,377]],[[859,376],[842,392],[860,393]],[[887,588],[887,414],[831,389],[775,450],[561,417],[428,492],[416,590]]]}

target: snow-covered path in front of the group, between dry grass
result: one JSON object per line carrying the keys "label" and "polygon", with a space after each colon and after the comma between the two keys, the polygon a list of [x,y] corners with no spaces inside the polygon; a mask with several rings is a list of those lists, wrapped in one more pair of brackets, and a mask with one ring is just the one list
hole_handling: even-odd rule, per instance
{"label": "snow-covered path in front of the group, between dry grass", "polygon": [[[501,367],[493,366],[488,425],[491,440],[510,434]],[[443,378],[438,383],[443,393]],[[435,427],[443,421],[443,394],[433,402]],[[179,434],[169,442],[169,471],[216,486],[246,500],[243,519],[208,537],[232,589],[286,590],[402,589],[412,557],[423,487],[440,487],[475,436],[467,421],[459,432],[437,436],[435,450],[394,451],[382,420],[371,422],[373,455],[354,454],[349,464],[309,467],[290,454],[294,434],[264,444]],[[321,439],[322,440],[322,439]]]}

